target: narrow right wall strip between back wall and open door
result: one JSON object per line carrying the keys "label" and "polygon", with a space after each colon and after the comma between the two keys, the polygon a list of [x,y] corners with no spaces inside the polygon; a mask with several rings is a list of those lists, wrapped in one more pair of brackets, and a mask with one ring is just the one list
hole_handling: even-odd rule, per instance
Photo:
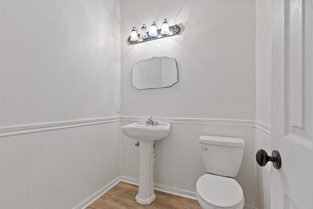
{"label": "narrow right wall strip between back wall and open door", "polygon": [[[271,1],[256,1],[256,151],[271,153]],[[270,208],[270,163],[256,166],[258,209]]]}

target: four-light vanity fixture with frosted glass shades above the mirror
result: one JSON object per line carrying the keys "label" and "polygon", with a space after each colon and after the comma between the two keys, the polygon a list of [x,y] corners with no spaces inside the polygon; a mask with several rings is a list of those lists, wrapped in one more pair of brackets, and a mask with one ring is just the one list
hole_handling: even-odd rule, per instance
{"label": "four-light vanity fixture with frosted glass shades above the mirror", "polygon": [[164,22],[162,23],[161,29],[157,29],[156,22],[154,21],[150,27],[150,31],[148,32],[148,34],[146,24],[142,25],[140,34],[137,34],[137,29],[133,27],[131,35],[128,37],[127,41],[130,44],[137,44],[140,42],[178,35],[179,31],[180,27],[178,26],[178,24],[169,26],[167,23],[167,19],[165,18]]}

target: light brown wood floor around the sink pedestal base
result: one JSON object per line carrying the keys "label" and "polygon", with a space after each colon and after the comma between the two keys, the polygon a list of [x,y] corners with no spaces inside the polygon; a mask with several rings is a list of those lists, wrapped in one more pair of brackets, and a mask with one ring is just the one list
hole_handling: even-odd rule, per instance
{"label": "light brown wood floor around the sink pedestal base", "polygon": [[138,186],[118,183],[93,202],[87,209],[201,209],[197,200],[155,190],[156,200],[147,206],[136,203]]}

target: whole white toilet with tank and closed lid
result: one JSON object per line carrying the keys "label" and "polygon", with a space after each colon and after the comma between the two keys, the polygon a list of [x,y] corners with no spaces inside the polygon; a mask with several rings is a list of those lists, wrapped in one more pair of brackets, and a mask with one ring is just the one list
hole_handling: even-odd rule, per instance
{"label": "whole white toilet with tank and closed lid", "polygon": [[243,160],[244,139],[203,135],[199,142],[206,172],[196,185],[201,208],[243,209],[243,189],[232,177],[237,176]]}

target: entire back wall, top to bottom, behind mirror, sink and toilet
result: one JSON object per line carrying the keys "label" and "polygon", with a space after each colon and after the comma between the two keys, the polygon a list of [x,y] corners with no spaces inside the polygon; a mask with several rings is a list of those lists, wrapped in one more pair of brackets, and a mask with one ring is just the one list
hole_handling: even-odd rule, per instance
{"label": "entire back wall, top to bottom, behind mirror, sink and toilet", "polygon": [[[132,46],[126,43],[133,26],[140,28],[156,21],[160,28],[164,18],[170,25],[179,24],[180,35]],[[178,83],[150,90],[132,86],[133,64],[152,56],[176,58]],[[199,136],[245,139],[245,159],[236,179],[244,188],[246,205],[255,206],[253,0],[122,1],[121,102],[122,124],[130,122],[132,117],[128,116],[176,121],[171,135],[156,142],[154,180],[160,188],[194,195],[196,181],[204,173]],[[201,119],[190,118],[206,119],[201,125]],[[242,123],[249,125],[242,127]],[[121,175],[131,181],[138,179],[134,142],[121,135]]]}

